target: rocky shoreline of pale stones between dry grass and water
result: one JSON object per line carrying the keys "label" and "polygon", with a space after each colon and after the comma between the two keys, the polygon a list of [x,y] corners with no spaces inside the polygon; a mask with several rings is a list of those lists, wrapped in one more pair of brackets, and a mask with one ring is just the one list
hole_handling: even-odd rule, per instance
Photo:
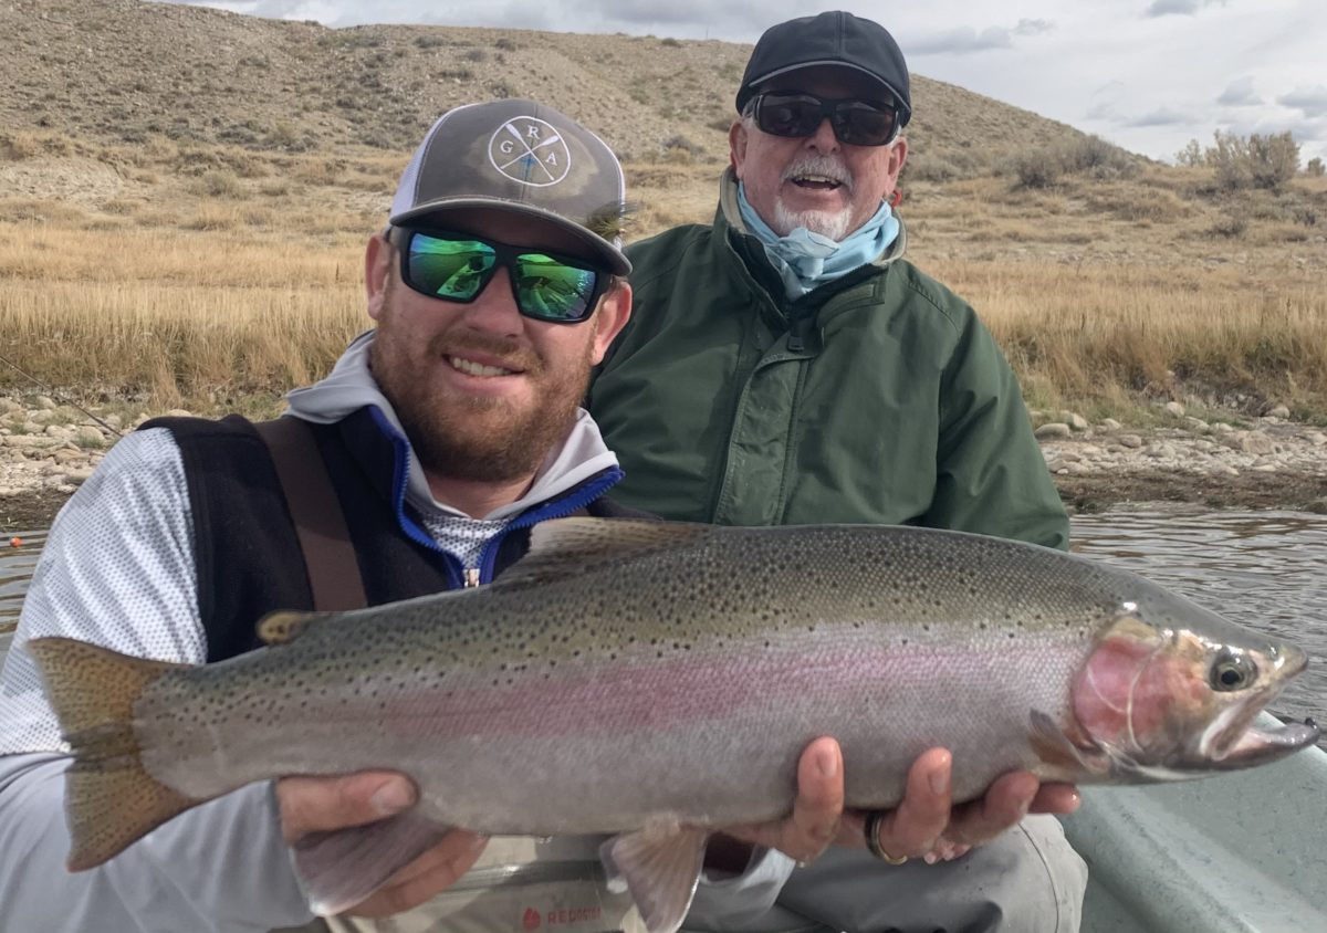
{"label": "rocky shoreline of pale stones between dry grass and water", "polygon": [[[101,415],[104,427],[50,398],[25,401],[0,397],[5,535],[48,527],[122,429],[115,415]],[[1189,417],[1170,402],[1165,425],[1145,431],[1111,419],[1088,423],[1068,411],[1032,417],[1047,468],[1074,511],[1184,502],[1327,512],[1327,433],[1289,421],[1285,409],[1234,427]]]}

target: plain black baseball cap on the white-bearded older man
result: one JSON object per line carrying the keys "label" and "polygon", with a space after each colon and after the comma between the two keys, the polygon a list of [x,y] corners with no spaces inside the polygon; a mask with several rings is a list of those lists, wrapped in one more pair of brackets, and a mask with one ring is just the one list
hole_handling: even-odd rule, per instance
{"label": "plain black baseball cap on the white-bearded older man", "polygon": [[878,23],[843,11],[803,16],[766,29],[738,88],[738,113],[764,82],[815,65],[863,72],[898,102],[900,126],[912,118],[908,62],[898,42]]}

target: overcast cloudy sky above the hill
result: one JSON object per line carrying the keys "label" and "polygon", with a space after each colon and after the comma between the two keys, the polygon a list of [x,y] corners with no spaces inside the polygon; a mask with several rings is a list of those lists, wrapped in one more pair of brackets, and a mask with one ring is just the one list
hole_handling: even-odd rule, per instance
{"label": "overcast cloudy sky above the hill", "polygon": [[916,74],[1173,161],[1189,139],[1290,130],[1327,158],[1324,0],[173,0],[330,27],[364,23],[625,32],[754,42],[848,8],[885,25]]}

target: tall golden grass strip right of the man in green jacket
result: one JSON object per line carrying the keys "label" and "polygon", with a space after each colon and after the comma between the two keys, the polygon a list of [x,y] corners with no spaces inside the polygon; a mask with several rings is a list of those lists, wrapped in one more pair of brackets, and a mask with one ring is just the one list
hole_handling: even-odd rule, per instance
{"label": "tall golden grass strip right of the man in green jacket", "polygon": [[940,263],[933,271],[982,311],[1040,406],[1140,399],[1212,406],[1278,401],[1327,415],[1327,293],[1274,293],[1243,272]]}

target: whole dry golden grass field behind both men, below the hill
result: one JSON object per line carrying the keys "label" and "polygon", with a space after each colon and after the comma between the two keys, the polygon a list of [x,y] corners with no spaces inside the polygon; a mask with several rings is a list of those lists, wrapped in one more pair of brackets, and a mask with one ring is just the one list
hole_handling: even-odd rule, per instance
{"label": "whole dry golden grass field behind both men, below the hill", "polygon": [[[252,409],[326,372],[369,325],[362,244],[399,155],[40,134],[9,146],[62,151],[61,178],[86,165],[104,183],[77,203],[36,187],[0,200],[0,353],[45,382],[157,409]],[[719,166],[626,171],[630,239],[710,222]],[[1044,190],[918,179],[901,212],[910,257],[979,311],[1038,407],[1140,419],[1169,398],[1285,402],[1327,423],[1323,179],[1262,200],[1160,167]],[[0,386],[24,381],[0,366]]]}

